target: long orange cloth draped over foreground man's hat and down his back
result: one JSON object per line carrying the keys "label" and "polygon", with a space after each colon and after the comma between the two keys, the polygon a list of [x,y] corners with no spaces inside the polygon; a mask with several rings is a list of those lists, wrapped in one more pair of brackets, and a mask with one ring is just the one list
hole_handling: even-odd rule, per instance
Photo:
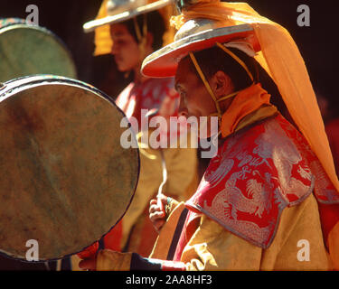
{"label": "long orange cloth draped over foreground man's hat and down his back", "polygon": [[172,17],[171,24],[179,29],[188,20],[196,18],[212,19],[224,26],[248,23],[253,27],[261,46],[256,60],[277,84],[291,117],[339,191],[339,181],[315,92],[305,62],[287,30],[262,17],[246,3],[219,0],[200,1],[184,10],[183,14]]}

